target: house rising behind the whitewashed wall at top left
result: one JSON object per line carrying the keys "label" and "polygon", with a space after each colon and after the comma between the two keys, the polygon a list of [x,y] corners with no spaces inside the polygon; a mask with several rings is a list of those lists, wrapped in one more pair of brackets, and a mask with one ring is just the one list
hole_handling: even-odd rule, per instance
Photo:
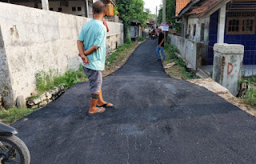
{"label": "house rising behind the whitewashed wall at top left", "polygon": [[[9,2],[12,4],[22,5],[22,6],[29,6],[38,9],[44,10],[52,10],[56,12],[62,12],[65,14],[73,14],[77,16],[82,16],[86,18],[93,18],[92,13],[92,5],[94,2],[99,0],[0,0],[0,2]],[[114,11],[114,6],[117,6],[114,0],[102,0],[106,6],[110,6],[109,10]],[[106,15],[106,21],[109,22],[119,22],[118,16],[114,15],[114,12],[111,11],[111,14]]]}

